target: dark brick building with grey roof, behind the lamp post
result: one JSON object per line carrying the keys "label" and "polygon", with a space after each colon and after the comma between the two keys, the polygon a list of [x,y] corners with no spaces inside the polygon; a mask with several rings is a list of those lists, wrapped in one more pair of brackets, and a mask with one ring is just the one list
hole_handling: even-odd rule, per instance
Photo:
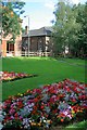
{"label": "dark brick building with grey roof, behind the lamp post", "polygon": [[29,30],[26,27],[22,36],[22,51],[28,52],[52,52],[51,27],[42,27]]}

